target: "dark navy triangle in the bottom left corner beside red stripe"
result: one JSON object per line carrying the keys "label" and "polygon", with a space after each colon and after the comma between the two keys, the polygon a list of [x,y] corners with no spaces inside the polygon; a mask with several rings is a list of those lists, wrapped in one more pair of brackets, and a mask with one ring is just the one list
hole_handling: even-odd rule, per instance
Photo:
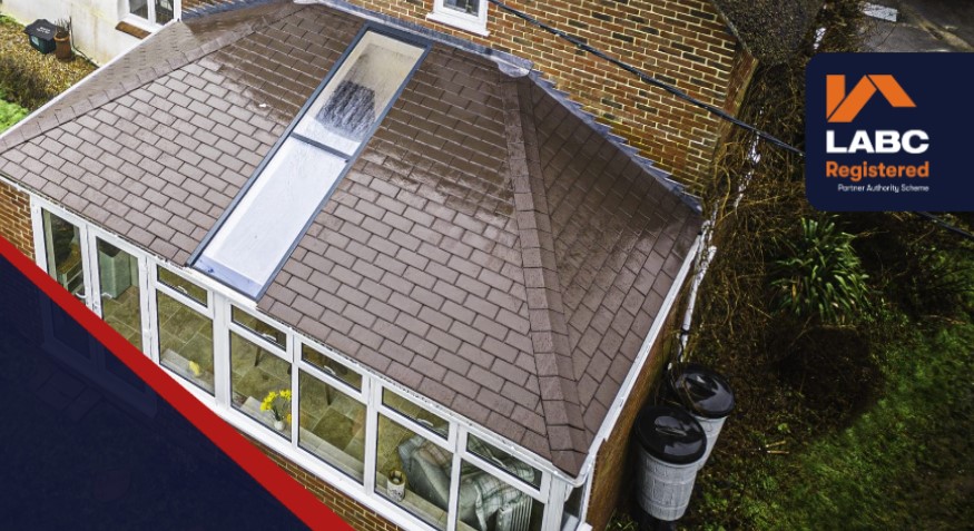
{"label": "dark navy triangle in the bottom left corner beside red stripe", "polygon": [[0,528],[305,529],[2,256],[0,390]]}

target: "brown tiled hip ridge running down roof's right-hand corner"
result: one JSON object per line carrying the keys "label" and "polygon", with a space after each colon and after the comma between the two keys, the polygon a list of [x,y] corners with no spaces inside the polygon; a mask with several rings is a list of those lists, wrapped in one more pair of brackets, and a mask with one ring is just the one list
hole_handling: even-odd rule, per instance
{"label": "brown tiled hip ridge running down roof's right-hand corner", "polygon": [[584,417],[573,374],[538,134],[527,107],[534,83],[528,77],[506,76],[502,83],[534,371],[552,462],[574,470],[584,460]]}

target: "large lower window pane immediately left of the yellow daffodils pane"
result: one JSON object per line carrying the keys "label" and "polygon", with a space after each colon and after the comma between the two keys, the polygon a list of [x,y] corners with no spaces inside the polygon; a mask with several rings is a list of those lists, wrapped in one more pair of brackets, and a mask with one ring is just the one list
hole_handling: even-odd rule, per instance
{"label": "large lower window pane immediately left of the yellow daffodils pane", "polygon": [[213,322],[158,291],[156,305],[159,363],[213,394]]}

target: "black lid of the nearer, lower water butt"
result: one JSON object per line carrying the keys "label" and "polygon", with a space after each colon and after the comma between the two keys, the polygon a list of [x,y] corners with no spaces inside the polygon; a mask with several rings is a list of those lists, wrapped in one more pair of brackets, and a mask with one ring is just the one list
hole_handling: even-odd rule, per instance
{"label": "black lid of the nearer, lower water butt", "polygon": [[707,434],[689,413],[670,405],[643,407],[636,419],[636,437],[643,450],[672,464],[697,462],[707,451]]}

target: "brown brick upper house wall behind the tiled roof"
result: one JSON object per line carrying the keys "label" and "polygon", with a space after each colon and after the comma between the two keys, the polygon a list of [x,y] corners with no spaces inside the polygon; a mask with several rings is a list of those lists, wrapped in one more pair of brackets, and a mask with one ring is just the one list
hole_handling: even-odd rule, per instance
{"label": "brown brick upper house wall behind the tiled roof", "polygon": [[[484,0],[485,1],[485,0]],[[489,7],[486,38],[427,21],[433,0],[350,0],[530,59],[590,112],[686,184],[711,175],[720,125],[701,109],[651,87],[604,60]],[[721,16],[709,0],[509,0],[505,3],[584,39],[612,57],[717,107],[735,107],[731,83],[745,68]],[[746,62],[746,61],[745,61]],[[736,108],[730,108],[731,111]]]}

